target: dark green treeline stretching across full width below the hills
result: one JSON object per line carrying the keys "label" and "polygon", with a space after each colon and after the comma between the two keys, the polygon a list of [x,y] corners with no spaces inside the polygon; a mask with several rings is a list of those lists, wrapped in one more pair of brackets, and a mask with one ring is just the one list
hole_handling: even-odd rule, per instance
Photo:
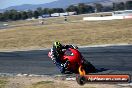
{"label": "dark green treeline stretching across full width below the hills", "polygon": [[108,12],[117,10],[127,10],[132,9],[132,1],[127,1],[126,3],[113,3],[112,6],[103,6],[99,3],[94,3],[93,5],[87,5],[80,3],[78,5],[71,5],[66,9],[63,8],[37,8],[36,10],[28,11],[17,11],[17,10],[7,10],[4,13],[0,13],[0,21],[10,21],[10,20],[25,20],[28,18],[38,18],[44,14],[52,13],[63,13],[63,12],[76,12],[77,14],[86,14],[93,12]]}

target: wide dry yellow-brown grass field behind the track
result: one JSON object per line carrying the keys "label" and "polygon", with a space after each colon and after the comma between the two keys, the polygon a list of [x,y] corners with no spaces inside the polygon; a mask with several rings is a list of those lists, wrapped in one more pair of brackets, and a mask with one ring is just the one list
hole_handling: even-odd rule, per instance
{"label": "wide dry yellow-brown grass field behind the track", "polygon": [[132,20],[21,26],[0,30],[0,49],[49,48],[57,40],[76,45],[131,44],[131,29]]}

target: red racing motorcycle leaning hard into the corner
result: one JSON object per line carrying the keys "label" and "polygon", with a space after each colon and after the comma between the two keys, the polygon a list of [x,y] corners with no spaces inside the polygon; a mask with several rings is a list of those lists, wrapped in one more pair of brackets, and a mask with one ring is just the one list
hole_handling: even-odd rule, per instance
{"label": "red racing motorcycle leaning hard into the corner", "polygon": [[[48,56],[52,58],[52,53],[49,52]],[[68,62],[66,69],[68,72],[79,73],[80,75],[96,72],[95,67],[83,58],[77,48],[68,48],[64,50],[64,54],[60,59],[62,63]]]}

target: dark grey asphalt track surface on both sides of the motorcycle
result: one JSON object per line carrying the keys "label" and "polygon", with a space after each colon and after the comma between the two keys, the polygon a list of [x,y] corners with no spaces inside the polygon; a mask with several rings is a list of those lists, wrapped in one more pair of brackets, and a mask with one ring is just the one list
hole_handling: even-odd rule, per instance
{"label": "dark grey asphalt track surface on both sides of the motorcycle", "polygon": [[[131,74],[132,45],[80,48],[99,74]],[[0,52],[0,73],[11,74],[61,74],[47,56],[47,50]]]}

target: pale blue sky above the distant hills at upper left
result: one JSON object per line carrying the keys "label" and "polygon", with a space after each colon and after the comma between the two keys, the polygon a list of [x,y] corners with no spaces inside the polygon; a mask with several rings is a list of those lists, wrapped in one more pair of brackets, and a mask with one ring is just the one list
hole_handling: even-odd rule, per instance
{"label": "pale blue sky above the distant hills at upper left", "polygon": [[44,4],[57,0],[0,0],[0,9],[22,4]]}

